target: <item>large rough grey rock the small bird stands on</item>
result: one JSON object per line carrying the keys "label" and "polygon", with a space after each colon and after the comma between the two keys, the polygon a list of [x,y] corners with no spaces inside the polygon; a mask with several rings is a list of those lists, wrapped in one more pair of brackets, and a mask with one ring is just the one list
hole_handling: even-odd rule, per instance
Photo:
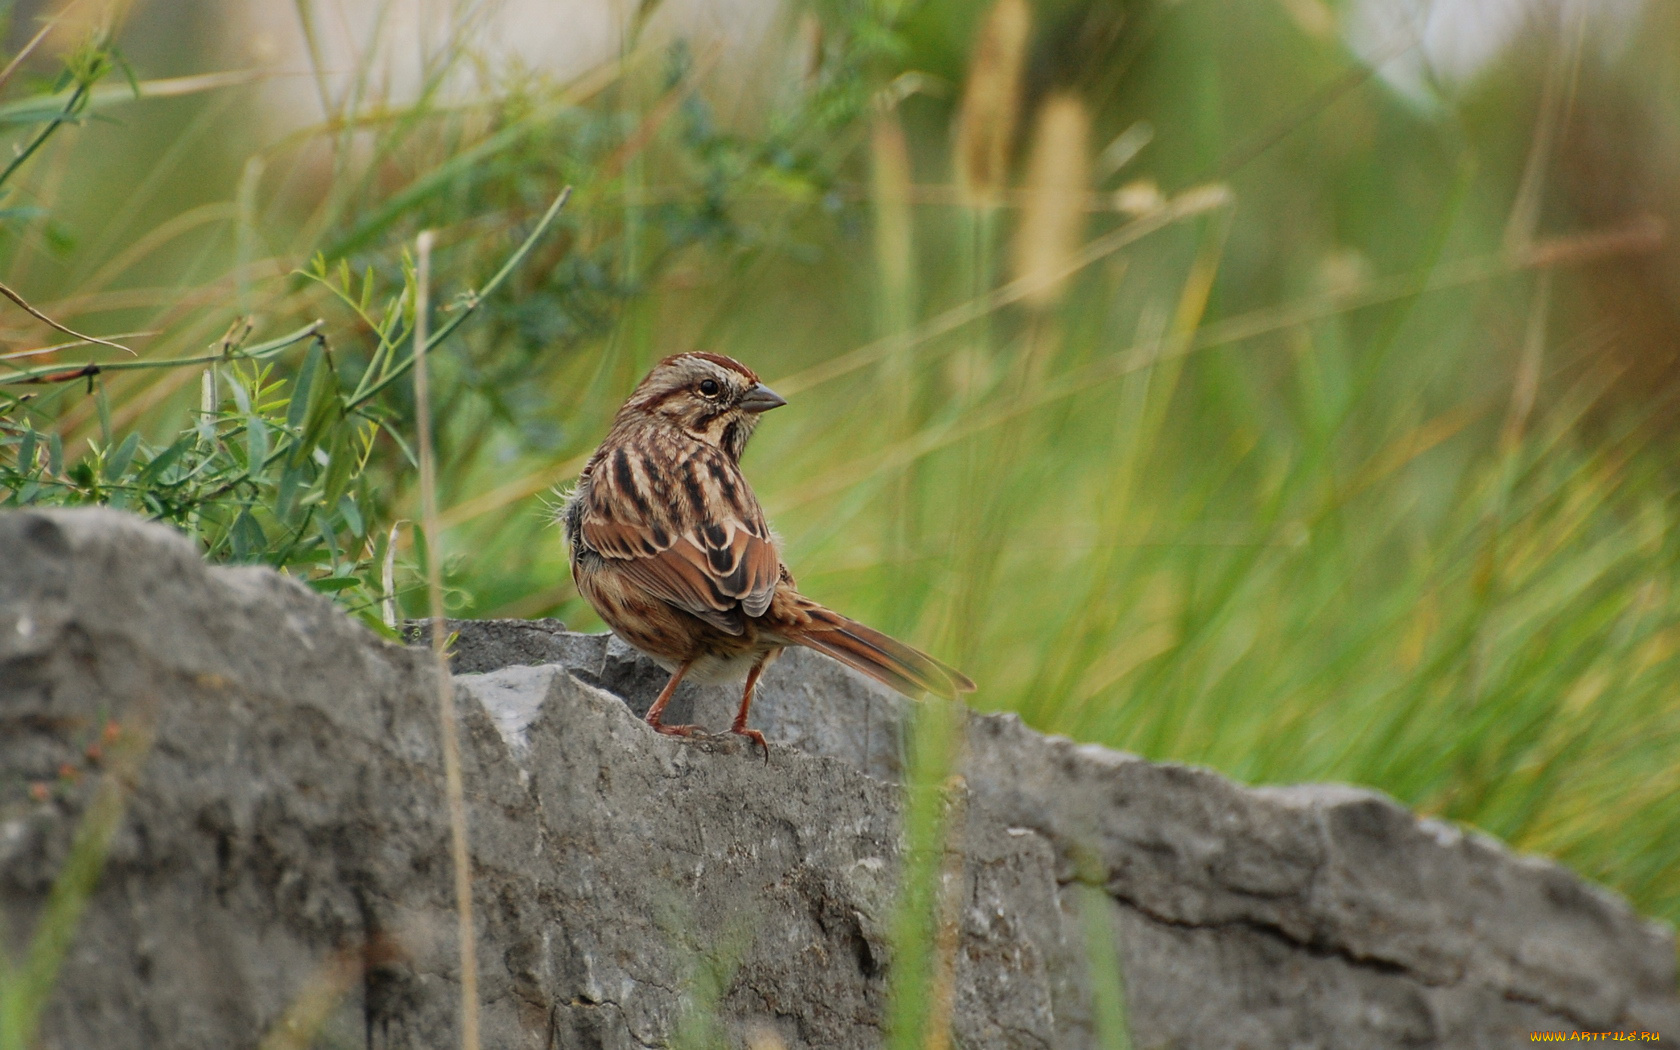
{"label": "large rough grey rock the small bird stands on", "polygon": [[[696,1045],[707,1020],[882,1045],[904,701],[788,654],[754,706],[766,766],[642,726],[664,674],[610,638],[452,630],[486,1047]],[[106,781],[89,748],[151,741],[42,1045],[455,1045],[435,687],[427,652],[161,528],[0,516],[13,958]],[[674,716],[732,702],[685,689]],[[966,739],[958,1047],[1095,1047],[1105,956],[1139,1048],[1680,1032],[1672,934],[1549,862],[1368,791],[1247,790],[1001,716]]]}

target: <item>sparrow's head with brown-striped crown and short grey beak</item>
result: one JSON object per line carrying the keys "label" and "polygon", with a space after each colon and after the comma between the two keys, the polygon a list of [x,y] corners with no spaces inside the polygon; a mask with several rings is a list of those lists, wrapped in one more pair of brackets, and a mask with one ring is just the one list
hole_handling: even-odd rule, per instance
{"label": "sparrow's head with brown-striped crown and short grey beak", "polygon": [[625,402],[618,418],[675,427],[697,442],[741,459],[758,417],[786,403],[741,361],[696,351],[655,365]]}

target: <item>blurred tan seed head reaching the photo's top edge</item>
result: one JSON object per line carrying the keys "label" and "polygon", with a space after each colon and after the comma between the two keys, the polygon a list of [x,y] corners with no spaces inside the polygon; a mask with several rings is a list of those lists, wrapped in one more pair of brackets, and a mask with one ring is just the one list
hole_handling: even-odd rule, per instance
{"label": "blurred tan seed head reaching the photo's top edge", "polygon": [[1026,0],[998,0],[974,42],[956,124],[954,158],[958,188],[971,208],[996,207],[998,192],[1008,181],[1030,37],[1032,10]]}

